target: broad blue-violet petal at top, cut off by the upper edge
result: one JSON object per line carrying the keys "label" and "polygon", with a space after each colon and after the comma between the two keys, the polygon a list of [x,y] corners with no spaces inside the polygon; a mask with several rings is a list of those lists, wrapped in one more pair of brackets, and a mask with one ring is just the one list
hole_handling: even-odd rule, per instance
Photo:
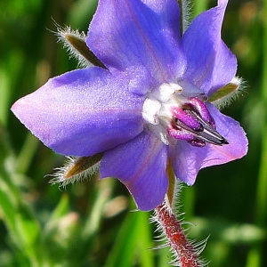
{"label": "broad blue-violet petal at top, cut off by the upper edge", "polygon": [[174,0],[101,0],[86,43],[109,69],[143,66],[162,81],[183,71],[179,25]]}

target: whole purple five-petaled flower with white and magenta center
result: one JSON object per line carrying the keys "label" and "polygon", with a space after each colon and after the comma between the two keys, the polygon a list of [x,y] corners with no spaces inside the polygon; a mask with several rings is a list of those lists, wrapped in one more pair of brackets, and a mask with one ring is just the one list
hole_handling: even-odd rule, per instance
{"label": "whole purple five-petaled flower with white and magenta center", "polygon": [[227,3],[181,36],[175,0],[100,0],[85,42],[106,68],[53,77],[12,112],[57,153],[102,152],[101,178],[123,182],[142,210],[158,206],[168,162],[192,185],[199,169],[247,153],[239,123],[208,102],[237,70],[221,39]]}

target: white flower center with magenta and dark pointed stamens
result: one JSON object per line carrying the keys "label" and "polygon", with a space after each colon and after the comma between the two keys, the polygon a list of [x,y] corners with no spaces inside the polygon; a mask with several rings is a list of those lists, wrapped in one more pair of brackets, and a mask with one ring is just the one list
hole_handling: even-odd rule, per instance
{"label": "white flower center with magenta and dark pointed stamens", "polygon": [[186,97],[181,85],[164,83],[148,94],[142,106],[145,125],[166,145],[184,140],[193,146],[227,144],[216,131],[214,118],[204,103],[205,96],[193,86]]}

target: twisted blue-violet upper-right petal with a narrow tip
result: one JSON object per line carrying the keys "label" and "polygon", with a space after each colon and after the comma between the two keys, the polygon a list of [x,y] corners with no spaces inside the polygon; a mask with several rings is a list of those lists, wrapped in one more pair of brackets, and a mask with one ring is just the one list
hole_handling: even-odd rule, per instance
{"label": "twisted blue-violet upper-right petal with a narrow tip", "polygon": [[202,12],[182,37],[188,65],[184,78],[207,96],[228,84],[237,71],[234,54],[221,39],[223,15],[228,1]]}

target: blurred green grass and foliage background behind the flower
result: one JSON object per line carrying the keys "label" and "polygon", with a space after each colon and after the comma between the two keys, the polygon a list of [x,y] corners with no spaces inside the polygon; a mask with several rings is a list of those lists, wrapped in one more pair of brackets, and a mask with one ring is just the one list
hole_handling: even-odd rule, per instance
{"label": "blurred green grass and foliage background behind the flower", "polygon": [[[196,15],[214,1],[196,0]],[[86,31],[96,0],[0,0],[0,266],[167,266],[167,248],[150,250],[150,213],[116,180],[70,185],[46,174],[64,158],[12,115],[12,102],[49,77],[77,68],[53,34],[55,20]],[[247,89],[223,112],[247,131],[246,158],[202,170],[182,191],[191,239],[210,236],[210,266],[267,266],[267,1],[230,0],[223,40],[236,53]]]}

